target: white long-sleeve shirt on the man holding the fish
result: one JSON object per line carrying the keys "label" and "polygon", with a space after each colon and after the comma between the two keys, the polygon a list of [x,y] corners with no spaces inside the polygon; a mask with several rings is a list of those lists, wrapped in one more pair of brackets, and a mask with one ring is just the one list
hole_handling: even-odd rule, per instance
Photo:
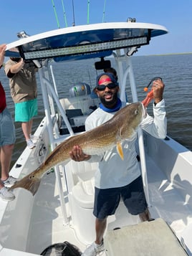
{"label": "white long-sleeve shirt on the man holding the fish", "polygon": [[[110,120],[116,112],[107,113],[101,108],[97,108],[85,122],[86,131]],[[153,104],[153,115],[147,115],[140,123],[140,128],[150,133],[156,138],[165,138],[167,120],[165,117],[165,102],[161,100],[156,105]],[[107,131],[106,131],[107,132]],[[136,158],[135,141],[137,134],[122,143],[124,160],[117,153],[116,147],[106,151],[103,155],[92,156],[90,162],[98,162],[95,173],[95,186],[100,189],[110,189],[126,186],[140,176],[140,166]]]}

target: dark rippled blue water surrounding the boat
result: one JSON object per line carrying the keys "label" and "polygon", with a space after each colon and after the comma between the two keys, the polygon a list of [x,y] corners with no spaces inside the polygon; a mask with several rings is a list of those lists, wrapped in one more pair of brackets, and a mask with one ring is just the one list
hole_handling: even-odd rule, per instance
{"label": "dark rippled blue water surrounding the boat", "polygon": [[[113,61],[112,66],[115,67]],[[183,146],[192,150],[192,54],[133,57],[133,70],[138,88],[138,100],[145,98],[143,88],[148,85],[148,82],[153,77],[160,76],[163,78],[163,82],[165,83],[164,98],[168,118],[168,136],[171,136]],[[97,73],[94,63],[91,60],[54,65],[54,72],[58,85],[59,98],[68,97],[69,87],[75,85],[76,82],[87,82],[91,87],[95,87]],[[7,107],[14,117],[14,103],[10,96],[9,80],[5,76],[3,69],[0,71],[0,80],[6,91]],[[39,83],[38,75],[37,82]],[[129,97],[130,91],[128,89],[127,94],[128,100],[131,101]],[[33,132],[44,116],[40,87],[38,105],[39,113],[34,118]],[[148,108],[149,112],[150,107],[151,105]],[[21,125],[15,123],[15,126],[16,144],[11,166],[26,146]]]}

